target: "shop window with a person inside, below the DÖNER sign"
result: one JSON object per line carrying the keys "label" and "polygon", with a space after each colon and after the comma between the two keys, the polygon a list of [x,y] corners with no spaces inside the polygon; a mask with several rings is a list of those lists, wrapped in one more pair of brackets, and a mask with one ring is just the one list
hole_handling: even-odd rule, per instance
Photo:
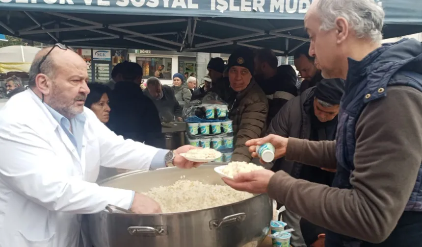
{"label": "shop window with a person inside, below the D\u00d6NER sign", "polygon": [[160,79],[171,80],[170,57],[136,57],[136,63],[142,67],[144,78],[155,76]]}

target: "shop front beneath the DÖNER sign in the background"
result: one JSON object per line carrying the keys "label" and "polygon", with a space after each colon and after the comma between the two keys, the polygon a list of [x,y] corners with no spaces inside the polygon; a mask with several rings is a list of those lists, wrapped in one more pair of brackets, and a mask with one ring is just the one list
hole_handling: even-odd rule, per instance
{"label": "shop front beneath the D\u00d6NER sign in the background", "polygon": [[160,78],[161,83],[173,84],[175,73],[188,76],[198,72],[197,52],[176,52],[162,50],[129,49],[129,60],[138,63],[144,71],[143,78],[152,76]]}

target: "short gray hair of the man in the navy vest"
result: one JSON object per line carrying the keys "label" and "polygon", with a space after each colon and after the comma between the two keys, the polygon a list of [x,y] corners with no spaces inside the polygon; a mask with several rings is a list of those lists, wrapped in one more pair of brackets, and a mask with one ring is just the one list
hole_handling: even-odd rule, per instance
{"label": "short gray hair of the man in the navy vest", "polygon": [[373,0],[319,0],[317,13],[321,30],[333,29],[336,18],[343,17],[357,38],[370,38],[374,43],[382,40],[385,13]]}

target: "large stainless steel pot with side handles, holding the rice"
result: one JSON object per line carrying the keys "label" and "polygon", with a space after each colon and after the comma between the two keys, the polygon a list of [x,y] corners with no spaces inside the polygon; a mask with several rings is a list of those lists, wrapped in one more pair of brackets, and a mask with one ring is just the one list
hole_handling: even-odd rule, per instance
{"label": "large stainless steel pot with side handles, holding the rice", "polygon": [[[182,176],[224,184],[214,167],[124,173],[101,184],[141,193],[172,185]],[[271,219],[272,203],[264,194],[197,211],[157,215],[103,211],[88,216],[94,247],[257,247],[268,233]]]}

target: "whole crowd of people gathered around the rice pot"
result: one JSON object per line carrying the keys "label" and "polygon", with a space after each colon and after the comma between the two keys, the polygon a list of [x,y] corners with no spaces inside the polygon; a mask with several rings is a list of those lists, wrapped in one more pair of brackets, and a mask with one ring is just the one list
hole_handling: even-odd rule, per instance
{"label": "whole crowd of people gathered around the rice pot", "polygon": [[[180,155],[192,146],[163,149],[160,123],[183,121],[186,105],[215,94],[233,121],[233,160],[275,147],[271,169],[224,182],[284,205],[292,247],[420,246],[422,44],[381,45],[383,20],[369,0],[314,0],[304,20],[311,42],[293,54],[301,83],[269,49],[236,49],[226,65],[212,58],[201,86],[188,73],[163,85],[162,65],[145,88],[137,63],[117,64],[106,84],[86,83],[77,53],[42,49],[30,89],[0,113],[0,245],[76,247],[79,215],[107,204],[160,212],[145,195],[95,184],[100,166],[104,176],[199,166]],[[6,82],[10,92],[22,87]]]}

